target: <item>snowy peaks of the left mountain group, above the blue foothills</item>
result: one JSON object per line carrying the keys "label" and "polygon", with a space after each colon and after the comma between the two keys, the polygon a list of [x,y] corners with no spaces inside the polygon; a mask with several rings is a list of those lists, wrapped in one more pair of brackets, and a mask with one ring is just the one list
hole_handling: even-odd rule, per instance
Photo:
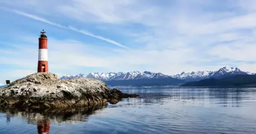
{"label": "snowy peaks of the left mountain group, above the blue foothills", "polygon": [[145,78],[171,78],[171,76],[164,75],[163,73],[152,73],[150,71],[130,71],[127,73],[89,73],[88,75],[66,75],[60,79],[73,79],[73,78],[96,78],[102,81],[110,80],[140,80]]}

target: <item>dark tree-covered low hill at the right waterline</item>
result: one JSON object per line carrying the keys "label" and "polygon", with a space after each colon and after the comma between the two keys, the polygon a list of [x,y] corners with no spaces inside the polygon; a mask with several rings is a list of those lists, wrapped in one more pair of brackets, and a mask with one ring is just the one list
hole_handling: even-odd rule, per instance
{"label": "dark tree-covered low hill at the right waterline", "polygon": [[235,75],[227,78],[210,78],[188,82],[181,86],[247,86],[256,85],[256,75]]}

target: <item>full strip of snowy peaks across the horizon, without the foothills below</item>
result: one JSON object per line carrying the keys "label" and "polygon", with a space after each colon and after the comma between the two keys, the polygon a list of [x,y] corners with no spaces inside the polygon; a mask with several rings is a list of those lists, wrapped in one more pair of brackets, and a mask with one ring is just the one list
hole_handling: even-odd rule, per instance
{"label": "full strip of snowy peaks across the horizon, without the foothills below", "polygon": [[142,80],[142,79],[159,79],[159,78],[176,78],[186,81],[198,81],[206,78],[225,78],[233,75],[253,75],[253,73],[241,71],[238,68],[228,68],[227,66],[220,68],[217,71],[192,71],[191,73],[179,73],[177,75],[164,75],[163,73],[152,73],[150,71],[130,71],[127,73],[89,73],[88,75],[66,75],[60,79],[73,78],[95,78],[102,81],[112,80]]}

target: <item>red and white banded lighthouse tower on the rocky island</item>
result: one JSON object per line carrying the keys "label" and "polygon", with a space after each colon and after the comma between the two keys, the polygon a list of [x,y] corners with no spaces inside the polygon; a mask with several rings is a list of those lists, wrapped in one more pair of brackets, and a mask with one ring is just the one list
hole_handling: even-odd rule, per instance
{"label": "red and white banded lighthouse tower on the rocky island", "polygon": [[39,51],[38,51],[38,73],[48,72],[48,49],[47,49],[47,36],[45,31],[41,31],[39,38]]}

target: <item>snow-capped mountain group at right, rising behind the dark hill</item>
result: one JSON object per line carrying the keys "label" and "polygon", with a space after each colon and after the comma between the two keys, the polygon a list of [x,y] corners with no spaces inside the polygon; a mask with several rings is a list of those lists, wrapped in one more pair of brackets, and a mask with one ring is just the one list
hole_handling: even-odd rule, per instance
{"label": "snow-capped mountain group at right, rising behind the dark hill", "polygon": [[227,66],[220,68],[217,71],[192,71],[191,73],[180,73],[172,76],[181,80],[203,80],[206,78],[224,78],[233,75],[254,75],[255,73],[249,73],[241,71],[238,68],[229,68]]}

